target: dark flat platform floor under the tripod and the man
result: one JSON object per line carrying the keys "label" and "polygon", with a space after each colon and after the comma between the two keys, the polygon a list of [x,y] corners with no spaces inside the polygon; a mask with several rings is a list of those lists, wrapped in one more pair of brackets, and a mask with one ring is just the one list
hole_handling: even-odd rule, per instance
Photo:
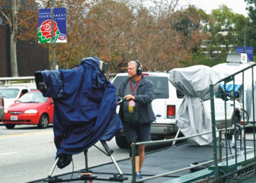
{"label": "dark flat platform floor under the tripod and the man", "polygon": [[[248,140],[248,146],[252,146],[252,140]],[[232,150],[233,151],[233,150]],[[223,156],[226,155],[225,147],[222,147]],[[230,151],[229,151],[230,153]],[[114,156],[114,155],[113,155]],[[176,169],[182,169],[190,166],[191,163],[195,162],[206,162],[213,159],[213,147],[212,146],[197,146],[191,143],[178,144],[176,147],[166,147],[161,150],[155,150],[153,152],[146,153],[144,164],[142,167],[142,177],[146,178],[152,175],[158,175],[165,172],[171,172]],[[123,182],[130,182],[132,179],[132,166],[130,159],[123,159],[117,161],[118,166],[120,167],[123,175],[128,178],[128,180]],[[206,166],[203,166],[206,168]],[[118,174],[114,163],[107,163],[101,166],[94,166],[89,168],[94,175],[97,175],[98,178],[110,178],[114,174]],[[69,178],[78,178],[82,172],[85,172],[84,169],[78,172],[69,172],[63,175],[56,175],[56,178],[69,179]],[[184,172],[177,172],[171,175],[166,175],[160,178],[154,178],[147,180],[146,182],[155,183],[155,182],[164,182],[171,180],[172,178],[177,178],[181,175],[189,174],[190,170]],[[31,182],[46,182],[46,180],[37,180]],[[66,181],[67,182],[67,181]],[[89,181],[70,181],[70,182],[89,182]],[[98,181],[93,180],[92,182],[107,182],[106,180]],[[114,182],[114,181],[112,181]]]}

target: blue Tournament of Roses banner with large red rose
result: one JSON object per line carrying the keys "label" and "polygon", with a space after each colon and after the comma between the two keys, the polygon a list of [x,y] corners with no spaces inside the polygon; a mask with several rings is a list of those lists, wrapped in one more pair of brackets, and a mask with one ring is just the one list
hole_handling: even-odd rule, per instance
{"label": "blue Tournament of Roses banner with large red rose", "polygon": [[[66,43],[66,8],[53,8],[53,41]],[[38,12],[38,43],[52,42],[51,9],[39,9]]]}

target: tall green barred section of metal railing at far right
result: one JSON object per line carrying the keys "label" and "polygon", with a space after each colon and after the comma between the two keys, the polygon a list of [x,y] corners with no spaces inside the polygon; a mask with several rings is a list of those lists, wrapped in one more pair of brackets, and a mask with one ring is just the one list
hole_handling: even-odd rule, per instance
{"label": "tall green barred section of metal railing at far right", "polygon": [[[238,75],[242,75],[242,110],[240,115],[240,120],[237,122],[232,123],[233,125],[233,131],[232,131],[232,149],[235,151],[234,155],[230,159],[226,159],[225,162],[222,162],[222,151],[221,147],[219,146],[219,153],[217,150],[217,137],[216,137],[216,118],[215,118],[215,107],[214,107],[214,93],[213,93],[213,86],[215,84],[210,85],[210,102],[211,102],[211,119],[212,119],[212,131],[213,131],[213,175],[217,180],[222,180],[223,178],[230,178],[235,173],[238,173],[241,169],[246,169],[249,166],[254,167],[254,172],[256,168],[256,153],[255,153],[255,108],[254,108],[254,65],[248,66],[248,68],[244,68],[241,71],[235,72],[234,74],[229,75],[228,77],[223,78],[222,80],[219,80],[216,84],[224,83],[224,89],[226,88],[226,84],[232,83],[233,86],[235,86],[235,80]],[[251,71],[251,78],[245,78],[245,72],[248,73],[248,71]],[[248,115],[248,112],[246,112],[245,109],[245,80],[251,80],[251,102],[252,102],[252,125],[246,125],[248,123],[248,119],[250,116]],[[241,82],[241,80],[240,80]],[[232,93],[235,93],[235,87],[233,87]],[[226,98],[227,93],[224,93],[224,98]],[[233,106],[235,111],[235,95],[232,97],[233,100]],[[225,114],[226,114],[226,101],[225,101]],[[243,123],[241,124],[241,121]],[[227,127],[227,119],[226,119],[226,128],[224,133],[229,134],[230,131]],[[247,136],[245,134],[245,128],[252,127],[253,129],[253,147],[251,147],[253,153],[248,152],[248,145],[247,145]],[[222,137],[222,136],[220,136]],[[224,140],[224,144],[226,146],[226,156],[229,154],[229,144],[230,140],[226,137]],[[238,143],[240,142],[240,147],[238,147]],[[222,142],[223,143],[223,142]],[[222,163],[220,163],[222,162]],[[225,175],[221,175],[220,172],[225,171]]]}

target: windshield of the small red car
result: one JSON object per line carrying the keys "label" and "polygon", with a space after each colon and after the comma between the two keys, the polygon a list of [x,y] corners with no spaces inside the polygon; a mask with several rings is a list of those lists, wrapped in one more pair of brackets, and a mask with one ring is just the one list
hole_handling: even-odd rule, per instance
{"label": "windshield of the small red car", "polygon": [[45,103],[48,97],[44,97],[40,92],[29,92],[18,99],[18,103]]}

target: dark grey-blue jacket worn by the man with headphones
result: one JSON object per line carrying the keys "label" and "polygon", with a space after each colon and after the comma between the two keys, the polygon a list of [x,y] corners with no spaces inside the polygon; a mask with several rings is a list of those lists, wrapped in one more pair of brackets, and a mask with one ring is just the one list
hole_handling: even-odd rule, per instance
{"label": "dark grey-blue jacket worn by the man with headphones", "polygon": [[[125,94],[126,87],[128,86],[130,78],[123,80],[118,90],[118,96],[122,97]],[[136,89],[135,102],[138,103],[139,109],[139,124],[150,124],[155,121],[155,114],[152,109],[152,101],[155,96],[155,87],[151,80],[146,80],[142,76]],[[120,107],[120,117],[122,118],[122,107]]]}

